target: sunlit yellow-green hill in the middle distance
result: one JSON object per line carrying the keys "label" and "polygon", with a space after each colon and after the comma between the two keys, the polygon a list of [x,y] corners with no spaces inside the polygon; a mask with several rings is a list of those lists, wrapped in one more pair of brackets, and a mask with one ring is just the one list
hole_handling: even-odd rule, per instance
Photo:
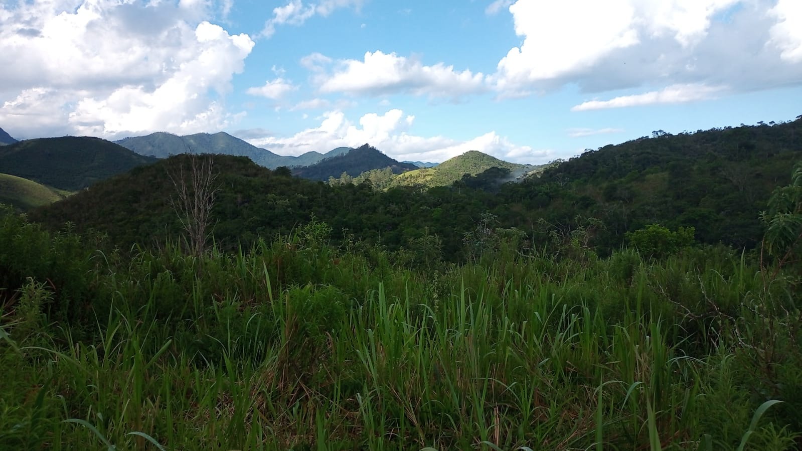
{"label": "sunlit yellow-green hill in the middle distance", "polygon": [[540,166],[510,163],[486,153],[471,150],[450,160],[445,160],[433,168],[421,168],[399,174],[393,178],[391,185],[448,186],[455,181],[462,180],[465,176],[476,177],[490,169],[500,169],[500,171],[491,171],[492,178],[497,181],[514,181],[537,172],[539,168]]}

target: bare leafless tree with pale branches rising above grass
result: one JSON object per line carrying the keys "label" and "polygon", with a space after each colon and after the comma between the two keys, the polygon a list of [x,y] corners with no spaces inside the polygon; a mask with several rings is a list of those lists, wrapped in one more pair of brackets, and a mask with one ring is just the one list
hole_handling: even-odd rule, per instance
{"label": "bare leafless tree with pale branches rising above grass", "polygon": [[199,257],[206,250],[212,208],[220,185],[217,184],[213,155],[188,153],[187,157],[187,164],[179,158],[176,159],[176,169],[168,169],[168,176],[176,189],[170,196],[170,205],[187,234],[190,254]]}

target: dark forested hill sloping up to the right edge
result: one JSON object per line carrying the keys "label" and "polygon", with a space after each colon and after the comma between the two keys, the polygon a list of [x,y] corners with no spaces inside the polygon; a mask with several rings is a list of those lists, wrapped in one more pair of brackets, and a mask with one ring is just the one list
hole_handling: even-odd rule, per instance
{"label": "dark forested hill sloping up to the right edge", "polygon": [[597,240],[610,246],[627,230],[657,222],[693,226],[703,242],[751,247],[761,236],[758,212],[800,160],[802,116],[678,135],[657,131],[505,188],[509,200],[565,227],[572,215],[601,219]]}

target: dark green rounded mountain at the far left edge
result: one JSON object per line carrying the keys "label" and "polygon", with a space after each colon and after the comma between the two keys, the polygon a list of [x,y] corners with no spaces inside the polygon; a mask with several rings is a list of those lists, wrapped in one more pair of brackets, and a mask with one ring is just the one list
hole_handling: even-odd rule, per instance
{"label": "dark green rounded mountain at the far left edge", "polygon": [[40,138],[0,147],[0,173],[70,191],[155,160],[89,136]]}

